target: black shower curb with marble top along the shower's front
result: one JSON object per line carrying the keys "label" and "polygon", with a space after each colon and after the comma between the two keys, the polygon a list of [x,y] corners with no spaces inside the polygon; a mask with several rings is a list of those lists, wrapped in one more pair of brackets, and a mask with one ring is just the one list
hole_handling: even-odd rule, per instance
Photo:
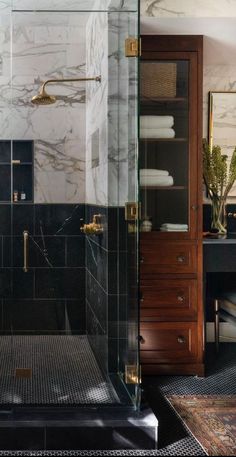
{"label": "black shower curb with marble top along the shower's front", "polygon": [[27,408],[0,413],[1,451],[156,450],[157,437],[158,421],[149,408]]}

